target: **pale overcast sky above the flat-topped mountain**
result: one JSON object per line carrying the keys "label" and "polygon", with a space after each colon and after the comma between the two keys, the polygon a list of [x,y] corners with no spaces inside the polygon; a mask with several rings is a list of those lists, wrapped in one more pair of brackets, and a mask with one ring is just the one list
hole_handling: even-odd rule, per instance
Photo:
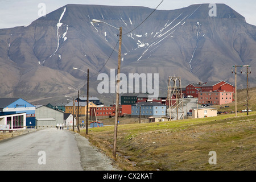
{"label": "pale overcast sky above the flat-topped mountain", "polygon": [[[51,13],[67,4],[144,6],[155,9],[160,2],[162,0],[0,0],[0,28],[27,26],[44,12]],[[158,10],[175,10],[200,3],[225,3],[244,16],[247,23],[256,26],[255,0],[163,0]]]}

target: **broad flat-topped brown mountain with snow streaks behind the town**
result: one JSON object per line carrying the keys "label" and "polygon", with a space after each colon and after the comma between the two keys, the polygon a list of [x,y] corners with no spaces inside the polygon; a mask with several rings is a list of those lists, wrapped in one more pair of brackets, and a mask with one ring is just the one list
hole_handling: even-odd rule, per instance
{"label": "broad flat-topped brown mountain with snow streaks behind the town", "polygon": [[[29,26],[1,29],[0,97],[46,103],[75,96],[68,87],[85,94],[86,74],[76,67],[89,68],[89,94],[111,104],[115,95],[97,92],[97,76],[117,70],[119,31],[92,19],[122,27],[121,73],[159,73],[160,93],[167,93],[174,75],[183,87],[199,81],[234,84],[233,65],[256,67],[256,27],[229,6],[217,4],[216,10],[217,16],[209,16],[209,4],[191,5],[156,10],[146,19],[153,9],[66,5]],[[250,86],[255,76],[249,75]],[[246,86],[246,74],[237,76],[237,85]]]}

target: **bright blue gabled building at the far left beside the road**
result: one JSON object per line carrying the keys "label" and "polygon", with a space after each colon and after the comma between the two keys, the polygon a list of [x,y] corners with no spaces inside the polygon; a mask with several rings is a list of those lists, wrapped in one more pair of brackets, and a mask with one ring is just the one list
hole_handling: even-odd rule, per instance
{"label": "bright blue gabled building at the far left beside the road", "polygon": [[35,126],[35,106],[22,98],[0,98],[0,115],[26,113],[26,126]]}

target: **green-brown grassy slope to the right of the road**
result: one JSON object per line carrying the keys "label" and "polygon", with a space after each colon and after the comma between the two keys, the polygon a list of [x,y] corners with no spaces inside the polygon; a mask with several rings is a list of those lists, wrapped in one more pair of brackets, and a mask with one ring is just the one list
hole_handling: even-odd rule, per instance
{"label": "green-brown grassy slope to the right of the road", "polygon": [[[115,160],[123,170],[255,170],[255,118],[251,112],[118,125]],[[106,126],[86,137],[112,157],[113,136],[114,126]],[[208,163],[210,151],[216,165]]]}

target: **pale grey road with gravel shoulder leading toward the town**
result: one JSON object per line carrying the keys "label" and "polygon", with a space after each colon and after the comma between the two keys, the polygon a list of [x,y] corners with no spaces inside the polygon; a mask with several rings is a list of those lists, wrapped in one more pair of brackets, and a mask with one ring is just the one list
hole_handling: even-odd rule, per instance
{"label": "pale grey road with gravel shoulder leading toward the town", "polygon": [[112,160],[79,134],[44,129],[0,142],[0,170],[116,170]]}

